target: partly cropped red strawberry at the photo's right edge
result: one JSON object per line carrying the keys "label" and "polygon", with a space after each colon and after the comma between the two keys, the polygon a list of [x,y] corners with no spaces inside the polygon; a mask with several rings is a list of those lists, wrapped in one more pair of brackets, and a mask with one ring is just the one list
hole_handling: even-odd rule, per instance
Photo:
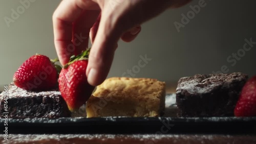
{"label": "partly cropped red strawberry at the photo's right edge", "polygon": [[234,109],[236,116],[256,116],[256,76],[247,81]]}

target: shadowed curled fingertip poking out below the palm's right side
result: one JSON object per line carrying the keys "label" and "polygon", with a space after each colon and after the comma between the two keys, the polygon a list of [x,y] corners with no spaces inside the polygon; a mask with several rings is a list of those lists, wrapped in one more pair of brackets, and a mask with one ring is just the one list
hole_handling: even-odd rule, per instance
{"label": "shadowed curled fingertip poking out below the palm's right side", "polygon": [[124,33],[121,37],[121,39],[125,42],[131,42],[133,41],[137,35],[140,33],[141,31],[141,27],[137,26],[129,31],[127,31],[126,33]]}

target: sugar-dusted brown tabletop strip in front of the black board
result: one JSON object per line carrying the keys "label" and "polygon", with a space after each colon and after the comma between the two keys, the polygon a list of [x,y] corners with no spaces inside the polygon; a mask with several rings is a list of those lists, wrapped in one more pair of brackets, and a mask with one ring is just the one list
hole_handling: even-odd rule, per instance
{"label": "sugar-dusted brown tabletop strip in front of the black board", "polygon": [[[4,139],[4,135],[0,136]],[[172,142],[171,142],[172,141]],[[246,142],[245,142],[246,141]],[[256,143],[254,135],[200,135],[200,134],[9,134],[9,140],[5,143]]]}

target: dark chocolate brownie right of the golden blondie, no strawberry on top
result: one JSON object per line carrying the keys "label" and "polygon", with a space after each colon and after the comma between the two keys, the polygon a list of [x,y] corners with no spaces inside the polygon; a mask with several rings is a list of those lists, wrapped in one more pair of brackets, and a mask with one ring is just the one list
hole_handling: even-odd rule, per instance
{"label": "dark chocolate brownie right of the golden blondie, no strawberry on top", "polygon": [[180,117],[233,116],[248,76],[242,73],[184,77],[178,82],[176,104]]}

